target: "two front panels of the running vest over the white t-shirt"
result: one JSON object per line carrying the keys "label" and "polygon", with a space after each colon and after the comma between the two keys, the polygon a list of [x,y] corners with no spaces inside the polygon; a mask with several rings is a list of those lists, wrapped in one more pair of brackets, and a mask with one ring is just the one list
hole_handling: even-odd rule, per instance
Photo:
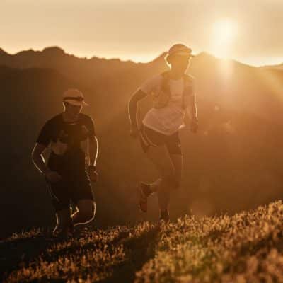
{"label": "two front panels of the running vest over the white t-shirt", "polygon": [[[160,89],[152,93],[153,107],[164,108],[168,105],[171,98],[171,91],[169,86],[169,72],[165,71],[161,73],[163,77]],[[184,89],[183,89],[183,108],[187,108],[190,103],[190,97],[194,95],[193,92],[193,77],[187,74],[183,74]]]}

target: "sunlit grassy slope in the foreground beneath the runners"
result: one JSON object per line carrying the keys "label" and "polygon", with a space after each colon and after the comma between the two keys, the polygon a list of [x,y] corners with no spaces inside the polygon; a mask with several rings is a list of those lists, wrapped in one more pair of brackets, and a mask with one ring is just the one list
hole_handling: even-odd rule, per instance
{"label": "sunlit grassy slope in the foreground beneath the runners", "polygon": [[69,241],[30,231],[0,249],[4,282],[283,282],[283,204]]}

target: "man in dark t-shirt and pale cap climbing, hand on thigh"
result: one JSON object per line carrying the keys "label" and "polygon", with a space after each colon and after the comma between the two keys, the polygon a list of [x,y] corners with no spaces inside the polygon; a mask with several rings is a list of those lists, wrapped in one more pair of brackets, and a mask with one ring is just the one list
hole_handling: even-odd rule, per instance
{"label": "man in dark t-shirt and pale cap climbing, hand on thigh", "polygon": [[[88,104],[81,91],[66,91],[63,95],[64,111],[45,123],[32,153],[33,163],[45,175],[52,197],[57,216],[53,233],[57,236],[71,234],[74,226],[90,222],[96,212],[91,181],[98,180],[98,141],[93,120],[81,113],[84,105]],[[48,146],[51,154],[45,163],[42,153]],[[72,215],[71,201],[77,207]]]}

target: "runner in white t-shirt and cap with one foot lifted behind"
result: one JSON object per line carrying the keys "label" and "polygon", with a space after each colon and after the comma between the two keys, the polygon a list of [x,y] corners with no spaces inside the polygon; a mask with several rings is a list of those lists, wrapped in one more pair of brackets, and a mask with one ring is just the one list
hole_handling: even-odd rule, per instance
{"label": "runner in white t-shirt and cap with one foot lifted behind", "polygon": [[[147,198],[156,192],[160,220],[169,221],[168,204],[172,190],[180,187],[183,156],[179,130],[185,117],[190,117],[190,129],[197,132],[195,79],[185,74],[192,50],[182,44],[173,45],[165,59],[168,71],[149,79],[129,100],[130,134],[139,137],[147,158],[156,166],[160,178],[154,183],[139,184],[139,209],[147,211]],[[153,108],[146,113],[140,129],[137,123],[137,103],[152,96]]]}

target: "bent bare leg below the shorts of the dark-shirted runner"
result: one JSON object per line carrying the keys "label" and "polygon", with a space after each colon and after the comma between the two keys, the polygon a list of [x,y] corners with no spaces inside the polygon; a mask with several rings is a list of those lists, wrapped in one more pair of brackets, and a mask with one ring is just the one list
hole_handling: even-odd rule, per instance
{"label": "bent bare leg below the shorts of the dark-shirted runner", "polygon": [[74,226],[87,224],[93,220],[96,214],[96,203],[93,200],[79,200],[78,210],[71,216],[71,223]]}

